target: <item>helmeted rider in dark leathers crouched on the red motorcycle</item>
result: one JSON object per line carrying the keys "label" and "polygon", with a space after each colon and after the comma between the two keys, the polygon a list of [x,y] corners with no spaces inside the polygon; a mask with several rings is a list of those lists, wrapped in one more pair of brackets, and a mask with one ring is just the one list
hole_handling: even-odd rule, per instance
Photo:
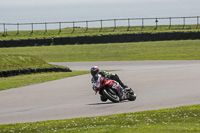
{"label": "helmeted rider in dark leathers crouched on the red motorcycle", "polygon": [[[126,99],[126,94],[123,93],[123,90],[124,89],[128,89],[128,86],[124,85],[122,83],[122,81],[119,79],[119,76],[117,74],[112,74],[110,72],[105,72],[105,71],[99,72],[99,67],[98,66],[93,66],[90,69],[90,72],[91,72],[91,75],[92,75],[92,79],[91,79],[92,83],[95,83],[98,80],[98,74],[102,75],[103,77],[105,77],[107,79],[112,79],[112,80],[117,81],[121,85],[121,88],[119,89],[118,93],[119,93],[119,95],[121,95],[121,99],[122,100]],[[94,90],[94,87],[92,87],[92,88]],[[94,90],[94,91],[96,91],[96,90]],[[103,97],[102,95],[100,96],[100,98],[101,98],[101,101],[106,101],[107,100],[107,98]]]}

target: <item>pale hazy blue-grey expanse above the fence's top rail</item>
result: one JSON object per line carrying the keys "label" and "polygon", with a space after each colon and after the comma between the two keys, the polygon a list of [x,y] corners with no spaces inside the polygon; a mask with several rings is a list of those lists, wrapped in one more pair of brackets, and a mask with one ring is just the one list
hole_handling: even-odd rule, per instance
{"label": "pale hazy blue-grey expanse above the fence's top rail", "polygon": [[200,15],[200,0],[0,0],[1,22]]}

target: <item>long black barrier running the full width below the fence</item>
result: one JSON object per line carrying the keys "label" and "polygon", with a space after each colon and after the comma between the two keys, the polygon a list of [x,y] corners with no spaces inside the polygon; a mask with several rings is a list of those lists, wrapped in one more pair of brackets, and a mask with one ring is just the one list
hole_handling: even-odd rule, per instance
{"label": "long black barrier running the full width below the fence", "polygon": [[97,43],[123,43],[141,41],[200,39],[200,32],[132,33],[101,36],[77,36],[43,39],[1,40],[0,47],[25,47]]}

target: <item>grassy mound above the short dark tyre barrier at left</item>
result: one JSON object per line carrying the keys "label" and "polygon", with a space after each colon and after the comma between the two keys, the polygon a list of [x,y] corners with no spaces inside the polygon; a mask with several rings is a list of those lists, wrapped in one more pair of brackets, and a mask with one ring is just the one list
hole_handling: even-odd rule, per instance
{"label": "grassy mound above the short dark tyre barrier at left", "polygon": [[58,66],[50,65],[33,56],[0,54],[0,71],[53,67]]}

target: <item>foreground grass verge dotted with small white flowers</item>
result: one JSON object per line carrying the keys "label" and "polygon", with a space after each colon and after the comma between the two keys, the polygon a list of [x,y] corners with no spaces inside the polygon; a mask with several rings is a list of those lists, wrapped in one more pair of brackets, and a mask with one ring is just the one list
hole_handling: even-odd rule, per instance
{"label": "foreground grass verge dotted with small white flowers", "polygon": [[0,125],[0,133],[199,133],[200,105],[109,116]]}

